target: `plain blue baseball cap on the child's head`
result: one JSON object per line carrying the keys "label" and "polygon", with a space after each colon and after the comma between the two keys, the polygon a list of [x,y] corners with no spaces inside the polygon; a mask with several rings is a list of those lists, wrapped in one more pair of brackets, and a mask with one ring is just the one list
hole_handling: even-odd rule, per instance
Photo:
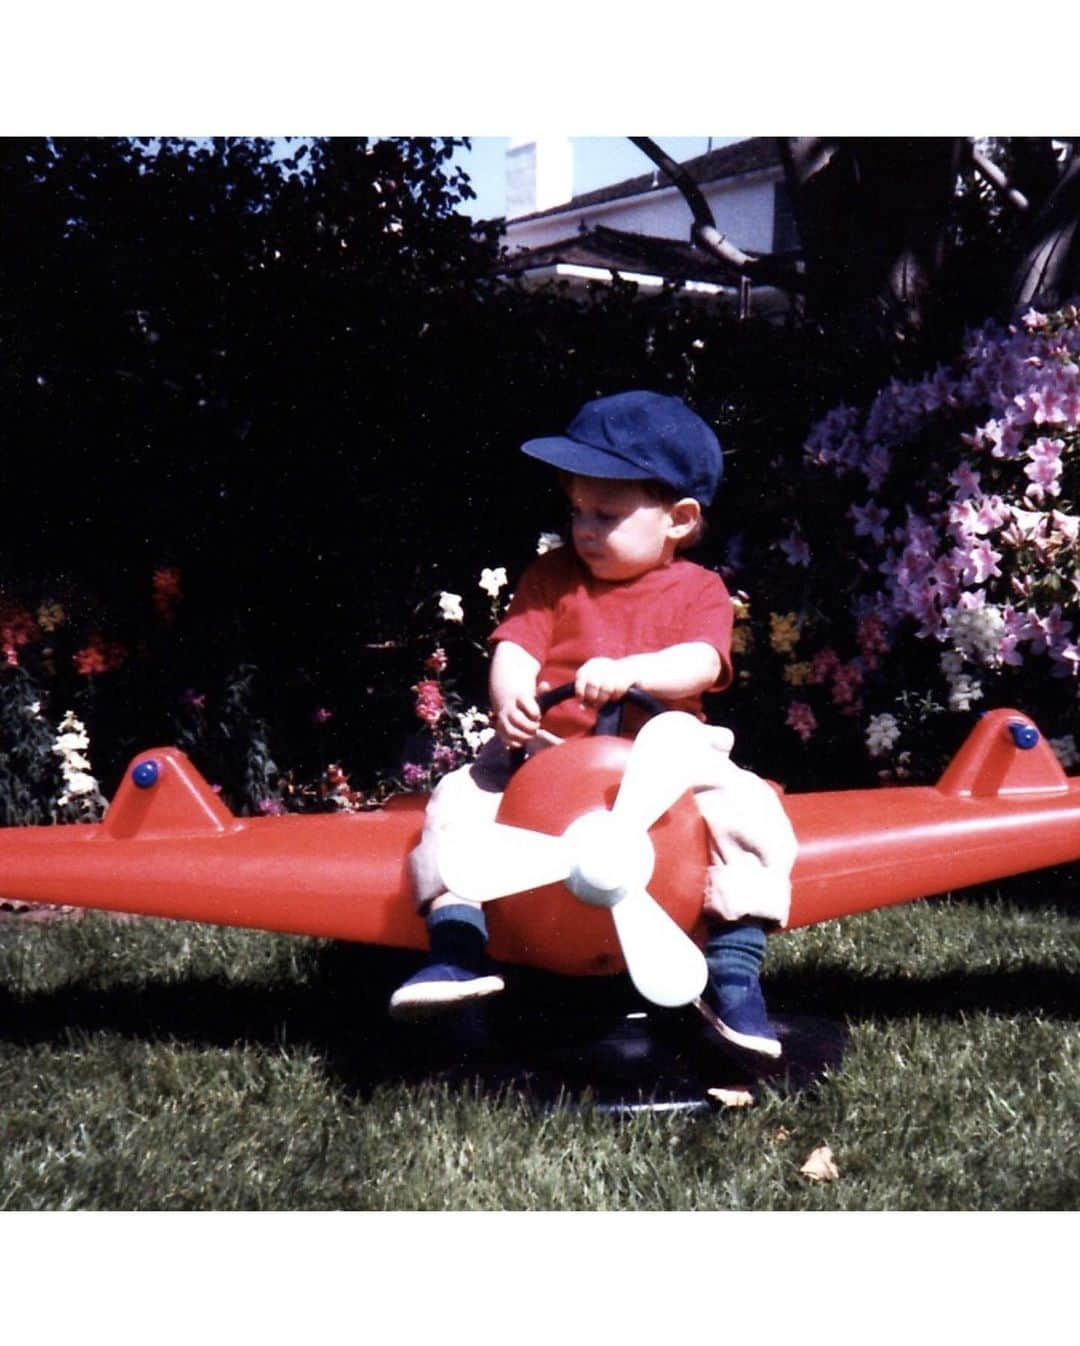
{"label": "plain blue baseball cap on the child's head", "polygon": [[630,392],[586,402],[566,435],[521,452],[578,476],[665,482],[708,505],[723,475],[720,441],[681,397]]}

